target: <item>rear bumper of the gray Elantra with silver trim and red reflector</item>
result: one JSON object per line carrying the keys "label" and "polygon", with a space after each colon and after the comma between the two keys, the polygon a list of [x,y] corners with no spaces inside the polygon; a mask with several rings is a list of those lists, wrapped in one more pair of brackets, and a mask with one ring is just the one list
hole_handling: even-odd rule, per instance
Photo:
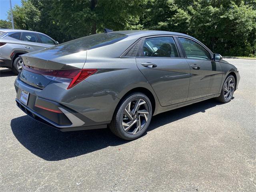
{"label": "rear bumper of the gray Elantra with silver trim and red reflector", "polygon": [[[25,84],[17,77],[14,83],[17,106],[28,116],[48,126],[66,131],[106,128],[109,121],[95,122],[62,103],[40,97],[43,90]],[[27,105],[20,102],[21,90],[29,93]]]}

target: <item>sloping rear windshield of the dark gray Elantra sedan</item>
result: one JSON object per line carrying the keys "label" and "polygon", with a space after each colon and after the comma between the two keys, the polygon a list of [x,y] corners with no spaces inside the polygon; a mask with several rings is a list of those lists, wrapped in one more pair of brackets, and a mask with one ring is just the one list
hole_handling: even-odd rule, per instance
{"label": "sloping rear windshield of the dark gray Elantra sedan", "polygon": [[100,33],[68,41],[53,48],[63,49],[68,52],[84,51],[113,44],[126,37],[127,35],[121,33]]}

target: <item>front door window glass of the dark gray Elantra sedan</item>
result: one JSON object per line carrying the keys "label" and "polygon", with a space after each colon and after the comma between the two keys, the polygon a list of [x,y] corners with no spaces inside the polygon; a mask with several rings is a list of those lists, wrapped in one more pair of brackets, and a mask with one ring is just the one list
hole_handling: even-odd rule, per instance
{"label": "front door window glass of the dark gray Elantra sedan", "polygon": [[200,44],[187,38],[179,39],[185,50],[187,58],[202,60],[211,59],[209,52]]}

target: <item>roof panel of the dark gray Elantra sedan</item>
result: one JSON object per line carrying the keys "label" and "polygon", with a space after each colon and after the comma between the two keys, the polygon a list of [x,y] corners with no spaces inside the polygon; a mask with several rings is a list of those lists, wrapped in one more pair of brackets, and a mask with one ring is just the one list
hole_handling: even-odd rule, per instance
{"label": "roof panel of the dark gray Elantra sedan", "polygon": [[127,36],[136,36],[136,37],[137,36],[138,37],[154,36],[154,35],[175,35],[175,36],[185,36],[185,37],[193,38],[192,36],[189,36],[183,33],[170,32],[170,31],[158,31],[158,30],[127,30],[127,31],[114,31],[111,33],[121,33]]}

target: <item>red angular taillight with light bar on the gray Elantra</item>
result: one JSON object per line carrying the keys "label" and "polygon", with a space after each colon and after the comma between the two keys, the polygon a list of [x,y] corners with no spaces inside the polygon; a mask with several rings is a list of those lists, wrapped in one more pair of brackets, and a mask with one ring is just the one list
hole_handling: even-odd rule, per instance
{"label": "red angular taillight with light bar on the gray Elantra", "polygon": [[68,84],[67,89],[74,87],[88,76],[94,74],[96,69],[79,69],[79,70],[45,70],[40,68],[31,68],[25,66],[24,70],[28,70],[37,74],[42,74],[44,77]]}

